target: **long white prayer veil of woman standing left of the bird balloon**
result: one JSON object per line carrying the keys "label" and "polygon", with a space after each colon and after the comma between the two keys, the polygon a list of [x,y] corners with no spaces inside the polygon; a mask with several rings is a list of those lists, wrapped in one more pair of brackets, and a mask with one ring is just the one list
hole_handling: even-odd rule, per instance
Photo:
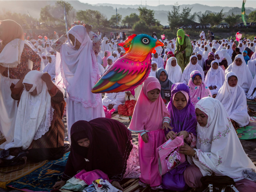
{"label": "long white prayer veil of woman standing left of the bird balloon", "polygon": [[[69,34],[74,35],[75,41],[81,43],[78,50],[72,45]],[[84,108],[96,108],[102,101],[101,94],[91,93],[91,88],[100,78],[93,42],[82,25],[72,27],[67,36],[68,43],[61,45],[60,71],[69,98],[81,103]],[[83,83],[82,88],[81,83]]]}

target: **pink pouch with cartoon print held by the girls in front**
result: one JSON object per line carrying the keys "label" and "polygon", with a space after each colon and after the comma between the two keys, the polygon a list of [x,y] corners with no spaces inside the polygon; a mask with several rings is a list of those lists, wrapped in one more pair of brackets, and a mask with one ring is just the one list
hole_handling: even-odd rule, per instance
{"label": "pink pouch with cartoon print held by the girls in front", "polygon": [[181,163],[185,162],[185,155],[178,153],[178,147],[184,145],[183,135],[167,142],[157,148],[158,173],[166,174]]}

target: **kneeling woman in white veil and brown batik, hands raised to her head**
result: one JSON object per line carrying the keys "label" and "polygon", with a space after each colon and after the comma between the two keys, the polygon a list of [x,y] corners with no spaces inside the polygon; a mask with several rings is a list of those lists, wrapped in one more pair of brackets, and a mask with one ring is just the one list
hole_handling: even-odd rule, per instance
{"label": "kneeling woman in white veil and brown batik, hands raised to her head", "polygon": [[5,145],[5,150],[29,149],[29,158],[34,161],[62,157],[64,90],[54,85],[48,73],[29,69],[16,85],[11,85],[11,91],[12,98],[19,100],[18,113],[14,140]]}

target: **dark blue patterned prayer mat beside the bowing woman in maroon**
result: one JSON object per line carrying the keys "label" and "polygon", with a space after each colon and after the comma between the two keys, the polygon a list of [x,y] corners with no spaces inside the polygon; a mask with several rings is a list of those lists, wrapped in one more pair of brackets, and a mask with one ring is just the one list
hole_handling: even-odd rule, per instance
{"label": "dark blue patterned prayer mat beside the bowing woman in maroon", "polygon": [[47,191],[53,190],[55,182],[61,180],[61,176],[65,170],[70,152],[65,153],[58,160],[49,161],[44,166],[34,170],[30,174],[23,176],[8,185],[12,185],[15,189],[29,189],[31,191]]}

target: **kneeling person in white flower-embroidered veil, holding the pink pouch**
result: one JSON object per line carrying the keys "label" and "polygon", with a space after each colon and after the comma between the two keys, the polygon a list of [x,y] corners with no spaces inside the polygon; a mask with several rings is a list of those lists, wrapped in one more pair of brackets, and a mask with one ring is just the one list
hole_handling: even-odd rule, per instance
{"label": "kneeling person in white flower-embroidered veil, holding the pink pouch", "polygon": [[[225,108],[217,99],[206,97],[195,106],[197,119],[196,148],[180,147],[180,153],[189,155],[192,165],[185,172],[189,187],[202,187],[200,178],[207,174],[229,176],[240,192],[255,191],[256,167],[247,157]],[[249,178],[252,180],[245,179]]]}

